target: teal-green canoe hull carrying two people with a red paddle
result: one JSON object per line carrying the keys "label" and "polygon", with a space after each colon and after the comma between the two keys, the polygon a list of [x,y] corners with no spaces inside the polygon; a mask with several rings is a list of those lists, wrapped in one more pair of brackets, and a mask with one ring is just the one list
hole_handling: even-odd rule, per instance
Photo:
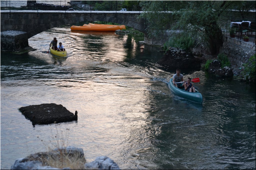
{"label": "teal-green canoe hull carrying two people with a red paddle", "polygon": [[168,87],[173,91],[173,93],[175,93],[178,96],[181,96],[185,99],[192,100],[192,101],[195,101],[195,102],[198,102],[198,103],[203,102],[203,97],[197,89],[196,89],[195,93],[185,91],[184,88],[179,89],[178,87],[173,85],[173,79],[170,79],[170,81],[168,83]]}

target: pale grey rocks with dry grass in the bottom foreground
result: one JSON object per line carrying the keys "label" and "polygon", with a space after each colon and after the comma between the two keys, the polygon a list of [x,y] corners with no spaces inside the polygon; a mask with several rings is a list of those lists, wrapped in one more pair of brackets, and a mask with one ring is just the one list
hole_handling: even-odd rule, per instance
{"label": "pale grey rocks with dry grass in the bottom foreground", "polygon": [[[59,164],[61,160],[63,162]],[[74,162],[68,163],[69,161]],[[52,167],[50,164],[60,165],[61,168]],[[75,167],[72,167],[72,165]],[[95,161],[86,163],[83,149],[72,146],[56,148],[49,152],[30,154],[26,158],[17,159],[11,169],[74,169],[78,167],[79,169],[120,169],[107,156],[99,156]]]}

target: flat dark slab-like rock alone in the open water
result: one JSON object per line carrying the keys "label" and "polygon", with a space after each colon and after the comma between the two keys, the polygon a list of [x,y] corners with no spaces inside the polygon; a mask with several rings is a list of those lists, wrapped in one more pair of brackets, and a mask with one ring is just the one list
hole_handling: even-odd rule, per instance
{"label": "flat dark slab-like rock alone in the open water", "polygon": [[30,105],[21,107],[19,110],[32,122],[33,125],[70,122],[77,120],[77,111],[75,114],[73,114],[61,104],[46,103]]}

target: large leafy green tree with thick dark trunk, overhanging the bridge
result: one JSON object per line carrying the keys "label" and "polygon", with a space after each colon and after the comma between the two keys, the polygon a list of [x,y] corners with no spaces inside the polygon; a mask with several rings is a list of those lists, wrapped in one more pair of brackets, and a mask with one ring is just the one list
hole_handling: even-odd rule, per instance
{"label": "large leafy green tree with thick dark trunk, overhanging the bridge", "polygon": [[[147,31],[156,36],[159,30],[179,28],[194,34],[204,34],[212,55],[218,55],[223,44],[218,19],[236,1],[144,1],[141,2]],[[175,25],[175,26],[174,26]]]}

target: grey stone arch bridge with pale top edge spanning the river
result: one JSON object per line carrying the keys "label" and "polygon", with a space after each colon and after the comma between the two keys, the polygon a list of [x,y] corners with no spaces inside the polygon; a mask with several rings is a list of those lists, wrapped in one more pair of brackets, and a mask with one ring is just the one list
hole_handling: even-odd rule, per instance
{"label": "grey stone arch bridge with pale top edge spanning the river", "polygon": [[[1,50],[8,50],[11,44],[7,31],[16,31],[18,38],[14,46],[28,46],[28,38],[65,24],[75,25],[79,22],[107,21],[132,27],[146,36],[143,19],[137,19],[141,11],[41,11],[41,10],[1,10]],[[7,32],[7,35],[4,33]],[[26,40],[26,42],[24,42]],[[18,50],[18,49],[17,49]]]}

